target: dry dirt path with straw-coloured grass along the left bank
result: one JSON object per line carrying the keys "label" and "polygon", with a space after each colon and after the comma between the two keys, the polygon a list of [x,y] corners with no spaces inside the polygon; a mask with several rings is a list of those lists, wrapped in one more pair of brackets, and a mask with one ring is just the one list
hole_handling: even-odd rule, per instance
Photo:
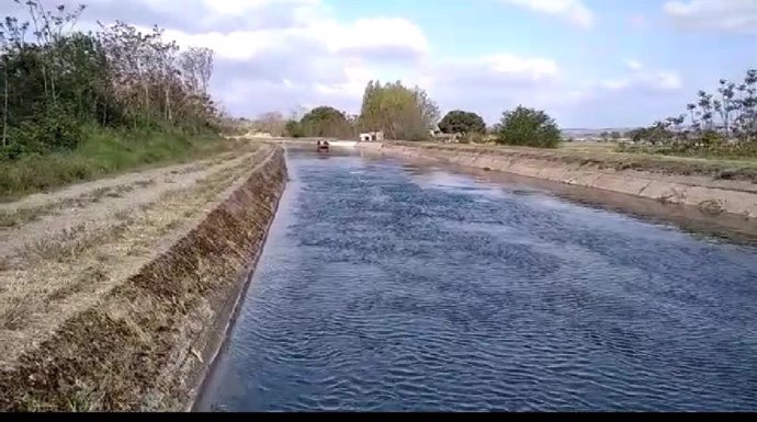
{"label": "dry dirt path with straw-coloured grass along the left bank", "polygon": [[94,306],[272,151],[240,148],[1,204],[0,366]]}

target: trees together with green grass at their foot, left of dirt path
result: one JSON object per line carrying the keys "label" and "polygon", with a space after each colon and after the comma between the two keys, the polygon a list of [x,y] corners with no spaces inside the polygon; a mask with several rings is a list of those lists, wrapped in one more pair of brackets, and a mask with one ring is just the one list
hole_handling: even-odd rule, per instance
{"label": "trees together with green grass at their foot, left of dirt path", "polygon": [[229,150],[211,99],[213,52],[124,22],[15,1],[0,21],[0,202]]}

